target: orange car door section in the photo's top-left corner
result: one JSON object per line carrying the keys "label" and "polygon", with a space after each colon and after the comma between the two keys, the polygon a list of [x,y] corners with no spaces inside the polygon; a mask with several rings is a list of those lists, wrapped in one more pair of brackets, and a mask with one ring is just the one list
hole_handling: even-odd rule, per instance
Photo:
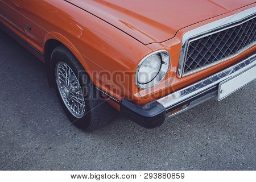
{"label": "orange car door section in the photo's top-left corner", "polygon": [[21,0],[0,0],[0,16],[16,30],[24,33],[20,6]]}

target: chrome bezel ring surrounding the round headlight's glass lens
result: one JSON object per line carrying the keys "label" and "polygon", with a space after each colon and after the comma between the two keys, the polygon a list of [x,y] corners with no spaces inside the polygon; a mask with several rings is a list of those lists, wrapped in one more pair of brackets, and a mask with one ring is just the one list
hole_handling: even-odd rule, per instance
{"label": "chrome bezel ring surrounding the round headlight's glass lens", "polygon": [[[138,75],[139,75],[139,69],[141,68],[142,64],[144,63],[145,60],[148,59],[148,57],[151,57],[153,55],[159,55],[160,59],[161,59],[161,67],[160,70],[158,72],[158,74],[155,76],[155,78],[153,80],[151,80],[150,82],[147,82],[146,84],[140,84],[138,81]],[[155,51],[150,53],[149,55],[145,56],[141,62],[139,62],[138,67],[136,69],[135,72],[135,84],[138,86],[138,88],[141,89],[146,89],[146,88],[150,88],[151,86],[154,86],[156,84],[158,84],[159,82],[161,82],[167,75],[169,68],[170,68],[170,54],[166,51],[166,50],[159,50],[159,51]]]}

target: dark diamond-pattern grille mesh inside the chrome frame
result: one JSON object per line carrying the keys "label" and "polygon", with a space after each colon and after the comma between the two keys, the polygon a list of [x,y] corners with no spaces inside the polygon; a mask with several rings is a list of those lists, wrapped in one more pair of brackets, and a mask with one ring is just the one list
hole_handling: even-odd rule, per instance
{"label": "dark diamond-pattern grille mesh inside the chrome frame", "polygon": [[235,55],[241,49],[253,44],[255,40],[255,17],[238,26],[193,40],[188,45],[184,73]]}

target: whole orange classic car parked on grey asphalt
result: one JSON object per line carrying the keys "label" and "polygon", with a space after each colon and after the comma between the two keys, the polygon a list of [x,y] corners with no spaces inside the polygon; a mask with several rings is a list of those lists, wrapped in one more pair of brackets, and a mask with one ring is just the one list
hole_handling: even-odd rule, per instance
{"label": "whole orange classic car parked on grey asphalt", "polygon": [[113,107],[158,127],[253,81],[255,16],[254,0],[0,0],[1,28],[45,63],[84,130]]}

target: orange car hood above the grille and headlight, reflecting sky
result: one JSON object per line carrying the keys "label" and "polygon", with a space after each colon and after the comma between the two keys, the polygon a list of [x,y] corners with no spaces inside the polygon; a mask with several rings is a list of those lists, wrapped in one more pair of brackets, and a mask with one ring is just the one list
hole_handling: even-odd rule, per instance
{"label": "orange car hood above the grille and headlight, reflecting sky", "polygon": [[254,0],[66,0],[143,44],[164,42],[181,28],[254,3]]}

